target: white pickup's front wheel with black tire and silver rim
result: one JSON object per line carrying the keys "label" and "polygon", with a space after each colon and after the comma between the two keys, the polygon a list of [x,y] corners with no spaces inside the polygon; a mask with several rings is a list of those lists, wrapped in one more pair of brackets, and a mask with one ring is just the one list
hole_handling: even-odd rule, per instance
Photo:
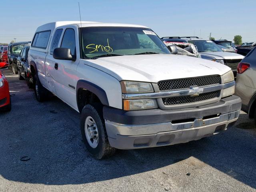
{"label": "white pickup's front wheel with black tire and silver rim", "polygon": [[115,148],[108,142],[101,104],[84,106],[80,129],[87,150],[97,159],[114,154]]}

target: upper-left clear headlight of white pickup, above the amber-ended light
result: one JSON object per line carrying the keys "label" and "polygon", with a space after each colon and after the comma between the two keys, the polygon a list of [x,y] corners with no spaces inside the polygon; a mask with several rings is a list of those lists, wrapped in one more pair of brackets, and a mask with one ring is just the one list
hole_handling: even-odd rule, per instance
{"label": "upper-left clear headlight of white pickup, above the amber-ended light", "polygon": [[152,93],[151,83],[121,81],[122,93]]}

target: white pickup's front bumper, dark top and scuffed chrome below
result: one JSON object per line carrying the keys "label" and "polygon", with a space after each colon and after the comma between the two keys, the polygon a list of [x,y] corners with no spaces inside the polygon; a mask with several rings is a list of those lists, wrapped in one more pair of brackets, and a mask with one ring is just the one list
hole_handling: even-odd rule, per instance
{"label": "white pickup's front bumper, dark top and scuffed chrome below", "polygon": [[241,99],[230,96],[180,110],[123,111],[104,107],[110,145],[119,149],[165,146],[198,140],[226,130],[240,114]]}

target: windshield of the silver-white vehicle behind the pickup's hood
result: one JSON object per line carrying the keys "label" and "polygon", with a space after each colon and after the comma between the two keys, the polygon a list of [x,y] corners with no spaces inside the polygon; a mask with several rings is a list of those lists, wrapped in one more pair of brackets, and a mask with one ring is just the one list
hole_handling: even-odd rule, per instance
{"label": "windshield of the silver-white vehicle behind the pickup's hood", "polygon": [[211,40],[195,40],[189,41],[196,46],[198,52],[217,52],[222,50]]}

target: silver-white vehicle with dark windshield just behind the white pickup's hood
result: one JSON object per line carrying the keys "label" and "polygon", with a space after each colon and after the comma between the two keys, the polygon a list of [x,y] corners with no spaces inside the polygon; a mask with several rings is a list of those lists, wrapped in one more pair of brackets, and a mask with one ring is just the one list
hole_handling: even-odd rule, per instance
{"label": "silver-white vehicle with dark windshield just behind the white pickup's hood", "polygon": [[244,56],[232,52],[224,52],[211,40],[187,37],[188,42],[196,46],[201,58],[219,62],[229,66],[236,77],[236,68]]}

